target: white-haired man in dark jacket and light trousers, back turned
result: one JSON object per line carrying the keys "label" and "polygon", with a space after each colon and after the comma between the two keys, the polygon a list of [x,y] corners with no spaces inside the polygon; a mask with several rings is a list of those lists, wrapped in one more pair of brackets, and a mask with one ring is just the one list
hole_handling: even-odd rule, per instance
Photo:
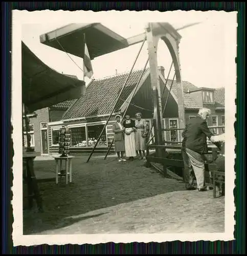
{"label": "white-haired man in dark jacket and light trousers, back turned", "polygon": [[[193,182],[197,182],[198,191],[206,191],[205,187],[205,154],[208,153],[207,137],[213,142],[222,141],[222,136],[213,135],[207,125],[210,109],[200,109],[195,118],[189,120],[182,133],[182,155],[185,165],[185,181],[187,189],[195,189]],[[194,171],[194,173],[193,173]],[[195,177],[194,177],[195,176]]]}

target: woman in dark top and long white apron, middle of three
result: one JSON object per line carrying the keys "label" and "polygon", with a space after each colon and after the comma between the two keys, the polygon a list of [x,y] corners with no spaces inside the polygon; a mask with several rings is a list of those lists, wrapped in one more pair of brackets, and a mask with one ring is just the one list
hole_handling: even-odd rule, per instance
{"label": "woman in dark top and long white apron, middle of three", "polygon": [[126,115],[126,120],[123,121],[124,131],[124,144],[125,155],[129,157],[129,160],[133,161],[136,154],[136,141],[134,138],[134,132],[136,131],[134,120],[130,119],[129,115]]}

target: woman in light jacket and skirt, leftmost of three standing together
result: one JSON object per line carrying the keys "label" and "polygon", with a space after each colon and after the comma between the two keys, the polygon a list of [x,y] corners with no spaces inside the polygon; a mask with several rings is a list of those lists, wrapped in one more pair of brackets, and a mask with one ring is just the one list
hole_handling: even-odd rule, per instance
{"label": "woman in light jacket and skirt, leftmost of three standing together", "polygon": [[118,155],[118,161],[126,161],[124,159],[125,145],[124,145],[124,130],[125,128],[122,126],[120,122],[121,116],[116,115],[116,122],[113,123],[113,132],[114,132],[114,141],[115,141],[115,150]]}

